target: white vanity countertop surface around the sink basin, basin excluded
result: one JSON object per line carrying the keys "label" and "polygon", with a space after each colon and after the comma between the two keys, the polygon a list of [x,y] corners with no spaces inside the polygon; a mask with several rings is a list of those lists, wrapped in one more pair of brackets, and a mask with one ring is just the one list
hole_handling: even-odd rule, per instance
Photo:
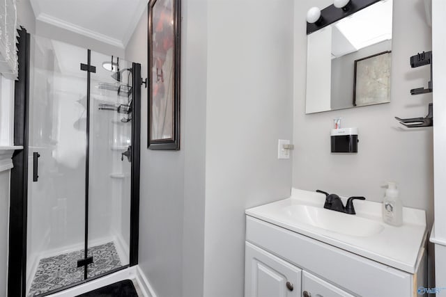
{"label": "white vanity countertop surface around the sink basin, basin excluded", "polygon": [[[346,198],[342,198],[342,200],[345,205]],[[309,223],[302,223],[301,220],[286,211],[293,205],[307,205],[326,211],[323,209],[324,202],[325,195],[323,194],[293,188],[290,198],[247,209],[245,213],[248,216],[265,220],[268,223],[323,241],[376,262],[408,273],[415,273],[418,255],[426,240],[426,214],[424,210],[403,207],[403,225],[401,227],[383,223],[381,217],[382,204],[378,202],[355,200],[356,215],[344,214],[339,211],[330,213],[330,219],[333,221],[336,218],[339,218],[339,220],[346,218],[342,216],[357,216],[360,220],[371,220],[374,225],[379,225],[378,231],[365,236],[334,232]],[[334,223],[334,225],[336,224]]]}

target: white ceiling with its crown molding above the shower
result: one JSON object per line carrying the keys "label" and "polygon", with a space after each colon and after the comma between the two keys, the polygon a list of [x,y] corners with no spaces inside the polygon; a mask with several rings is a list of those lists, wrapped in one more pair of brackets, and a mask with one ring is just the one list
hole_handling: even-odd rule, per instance
{"label": "white ceiling with its crown molding above the shower", "polygon": [[124,48],[148,0],[31,0],[36,19]]}

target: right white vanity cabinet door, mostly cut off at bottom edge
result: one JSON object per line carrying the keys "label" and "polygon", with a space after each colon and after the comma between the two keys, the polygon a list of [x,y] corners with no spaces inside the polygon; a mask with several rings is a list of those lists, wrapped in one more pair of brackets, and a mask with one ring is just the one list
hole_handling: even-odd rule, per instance
{"label": "right white vanity cabinet door, mostly cut off at bottom edge", "polygon": [[305,297],[353,297],[332,284],[316,278],[316,276],[303,271],[302,273],[302,296]]}

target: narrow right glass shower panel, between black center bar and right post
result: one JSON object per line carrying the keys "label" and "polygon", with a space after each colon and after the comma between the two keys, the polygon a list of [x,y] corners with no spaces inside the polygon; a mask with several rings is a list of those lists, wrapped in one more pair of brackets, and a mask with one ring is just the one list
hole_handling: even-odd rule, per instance
{"label": "narrow right glass shower panel, between black center bar and right post", "polygon": [[129,264],[132,63],[91,51],[89,277]]}

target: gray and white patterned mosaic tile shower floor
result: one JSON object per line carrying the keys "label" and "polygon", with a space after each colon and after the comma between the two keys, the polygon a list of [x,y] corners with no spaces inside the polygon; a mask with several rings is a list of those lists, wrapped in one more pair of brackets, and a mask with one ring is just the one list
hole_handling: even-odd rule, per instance
{"label": "gray and white patterned mosaic tile shower floor", "polygon": [[[84,250],[77,250],[40,259],[28,296],[44,294],[84,280],[84,268],[77,268],[77,260],[82,259],[83,255]],[[113,242],[89,248],[90,256],[93,256],[93,264],[88,266],[89,278],[122,266]]]}

